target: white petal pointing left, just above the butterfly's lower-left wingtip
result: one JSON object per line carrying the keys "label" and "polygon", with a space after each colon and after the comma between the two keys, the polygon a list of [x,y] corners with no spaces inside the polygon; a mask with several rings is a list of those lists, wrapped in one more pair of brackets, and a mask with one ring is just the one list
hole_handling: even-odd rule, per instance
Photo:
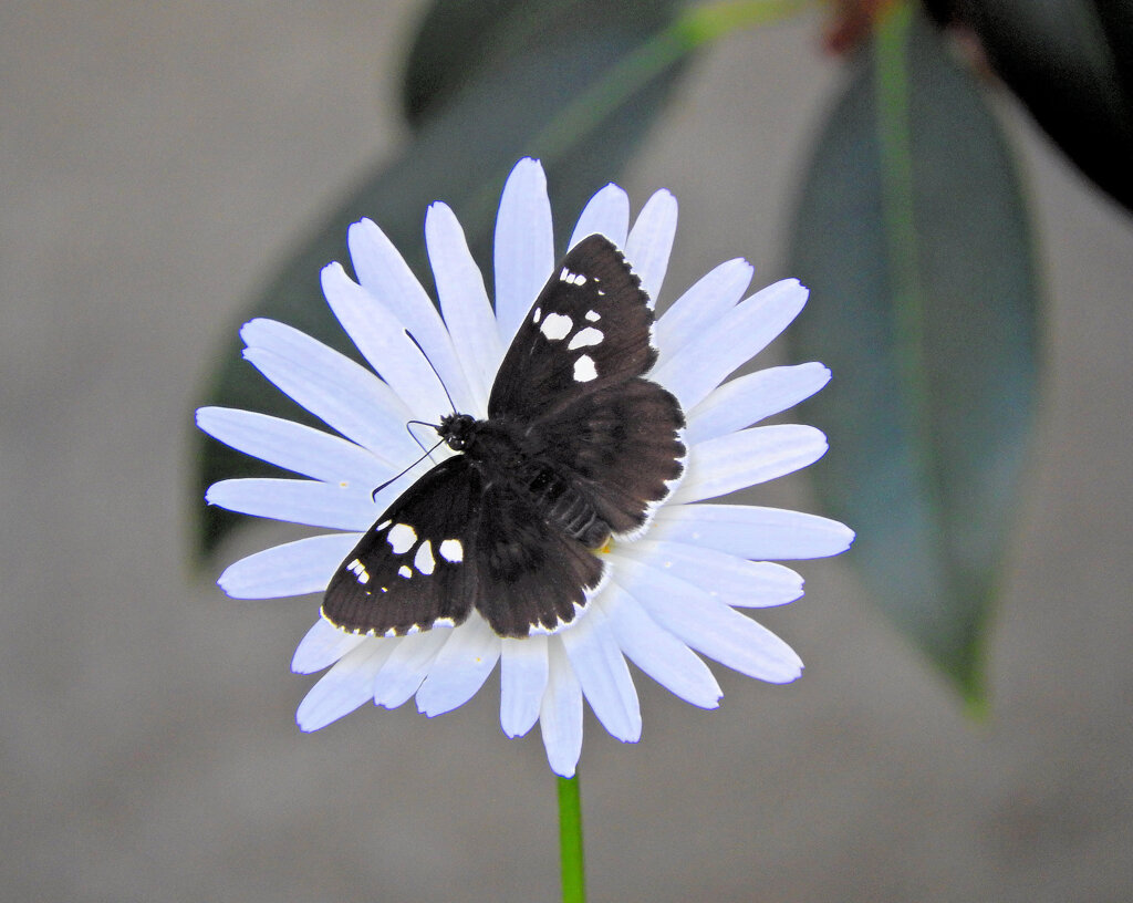
{"label": "white petal pointing left, just above the butterfly's lower-left wingtip", "polygon": [[361,534],[308,536],[230,564],[216,580],[236,599],[274,599],[322,593]]}

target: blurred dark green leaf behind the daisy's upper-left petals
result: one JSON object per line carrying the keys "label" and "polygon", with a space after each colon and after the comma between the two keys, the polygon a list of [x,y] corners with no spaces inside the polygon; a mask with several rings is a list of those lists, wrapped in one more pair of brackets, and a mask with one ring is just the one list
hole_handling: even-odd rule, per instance
{"label": "blurred dark green leaf behind the daisy's upper-left petals", "polygon": [[[449,6],[438,3],[436,9]],[[523,3],[527,19],[544,26],[555,23],[552,32],[542,27],[518,36],[497,35],[492,40],[500,56],[495,65],[465,73],[463,84],[452,88],[443,104],[425,104],[427,114],[419,117],[417,134],[399,156],[376,167],[298,242],[232,324],[232,340],[221,350],[220,367],[201,403],[314,423],[241,360],[237,326],[252,317],[272,317],[359,359],[323,301],[320,271],[335,259],[348,263],[347,228],[363,216],[382,227],[429,287],[425,211],[433,201],[446,202],[460,218],[491,284],[487,264],[500,191],[516,162],[531,154],[547,171],[557,240],[560,247],[565,244],[582,205],[616,177],[682,68],[680,49],[671,42],[658,44],[658,36],[666,34],[668,2],[627,5],[638,12],[636,29],[621,20],[607,27],[610,17],[563,20],[562,10],[569,6],[579,3]],[[441,11],[431,15],[427,22],[444,18]],[[458,40],[476,44],[482,35],[466,26],[436,40],[444,45]],[[542,36],[534,42],[531,35]],[[197,442],[193,505],[201,514],[198,552],[208,554],[247,518],[204,506],[199,502],[204,489],[219,479],[273,470],[207,436],[199,435]]]}

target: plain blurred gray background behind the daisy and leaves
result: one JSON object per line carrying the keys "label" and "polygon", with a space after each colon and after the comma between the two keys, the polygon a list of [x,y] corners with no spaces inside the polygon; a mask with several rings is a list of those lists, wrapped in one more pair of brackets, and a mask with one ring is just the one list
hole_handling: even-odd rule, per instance
{"label": "plain blurred gray background behind the daisy and leaves", "polygon": [[[5,898],[555,897],[554,783],[537,736],[501,735],[495,679],[443,718],[303,735],[312,681],[287,668],[313,606],[228,599],[187,563],[193,401],[242,301],[404,138],[420,8],[0,7]],[[713,50],[624,179],[680,199],[670,299],[736,254],[780,274],[837,84],[819,24]],[[1133,229],[1004,113],[1049,304],[993,717],[963,717],[849,561],[804,564],[765,619],[801,681],[721,673],[702,713],[641,679],[637,747],[588,721],[594,900],[1133,897]],[[801,482],[772,501],[812,506]]]}

